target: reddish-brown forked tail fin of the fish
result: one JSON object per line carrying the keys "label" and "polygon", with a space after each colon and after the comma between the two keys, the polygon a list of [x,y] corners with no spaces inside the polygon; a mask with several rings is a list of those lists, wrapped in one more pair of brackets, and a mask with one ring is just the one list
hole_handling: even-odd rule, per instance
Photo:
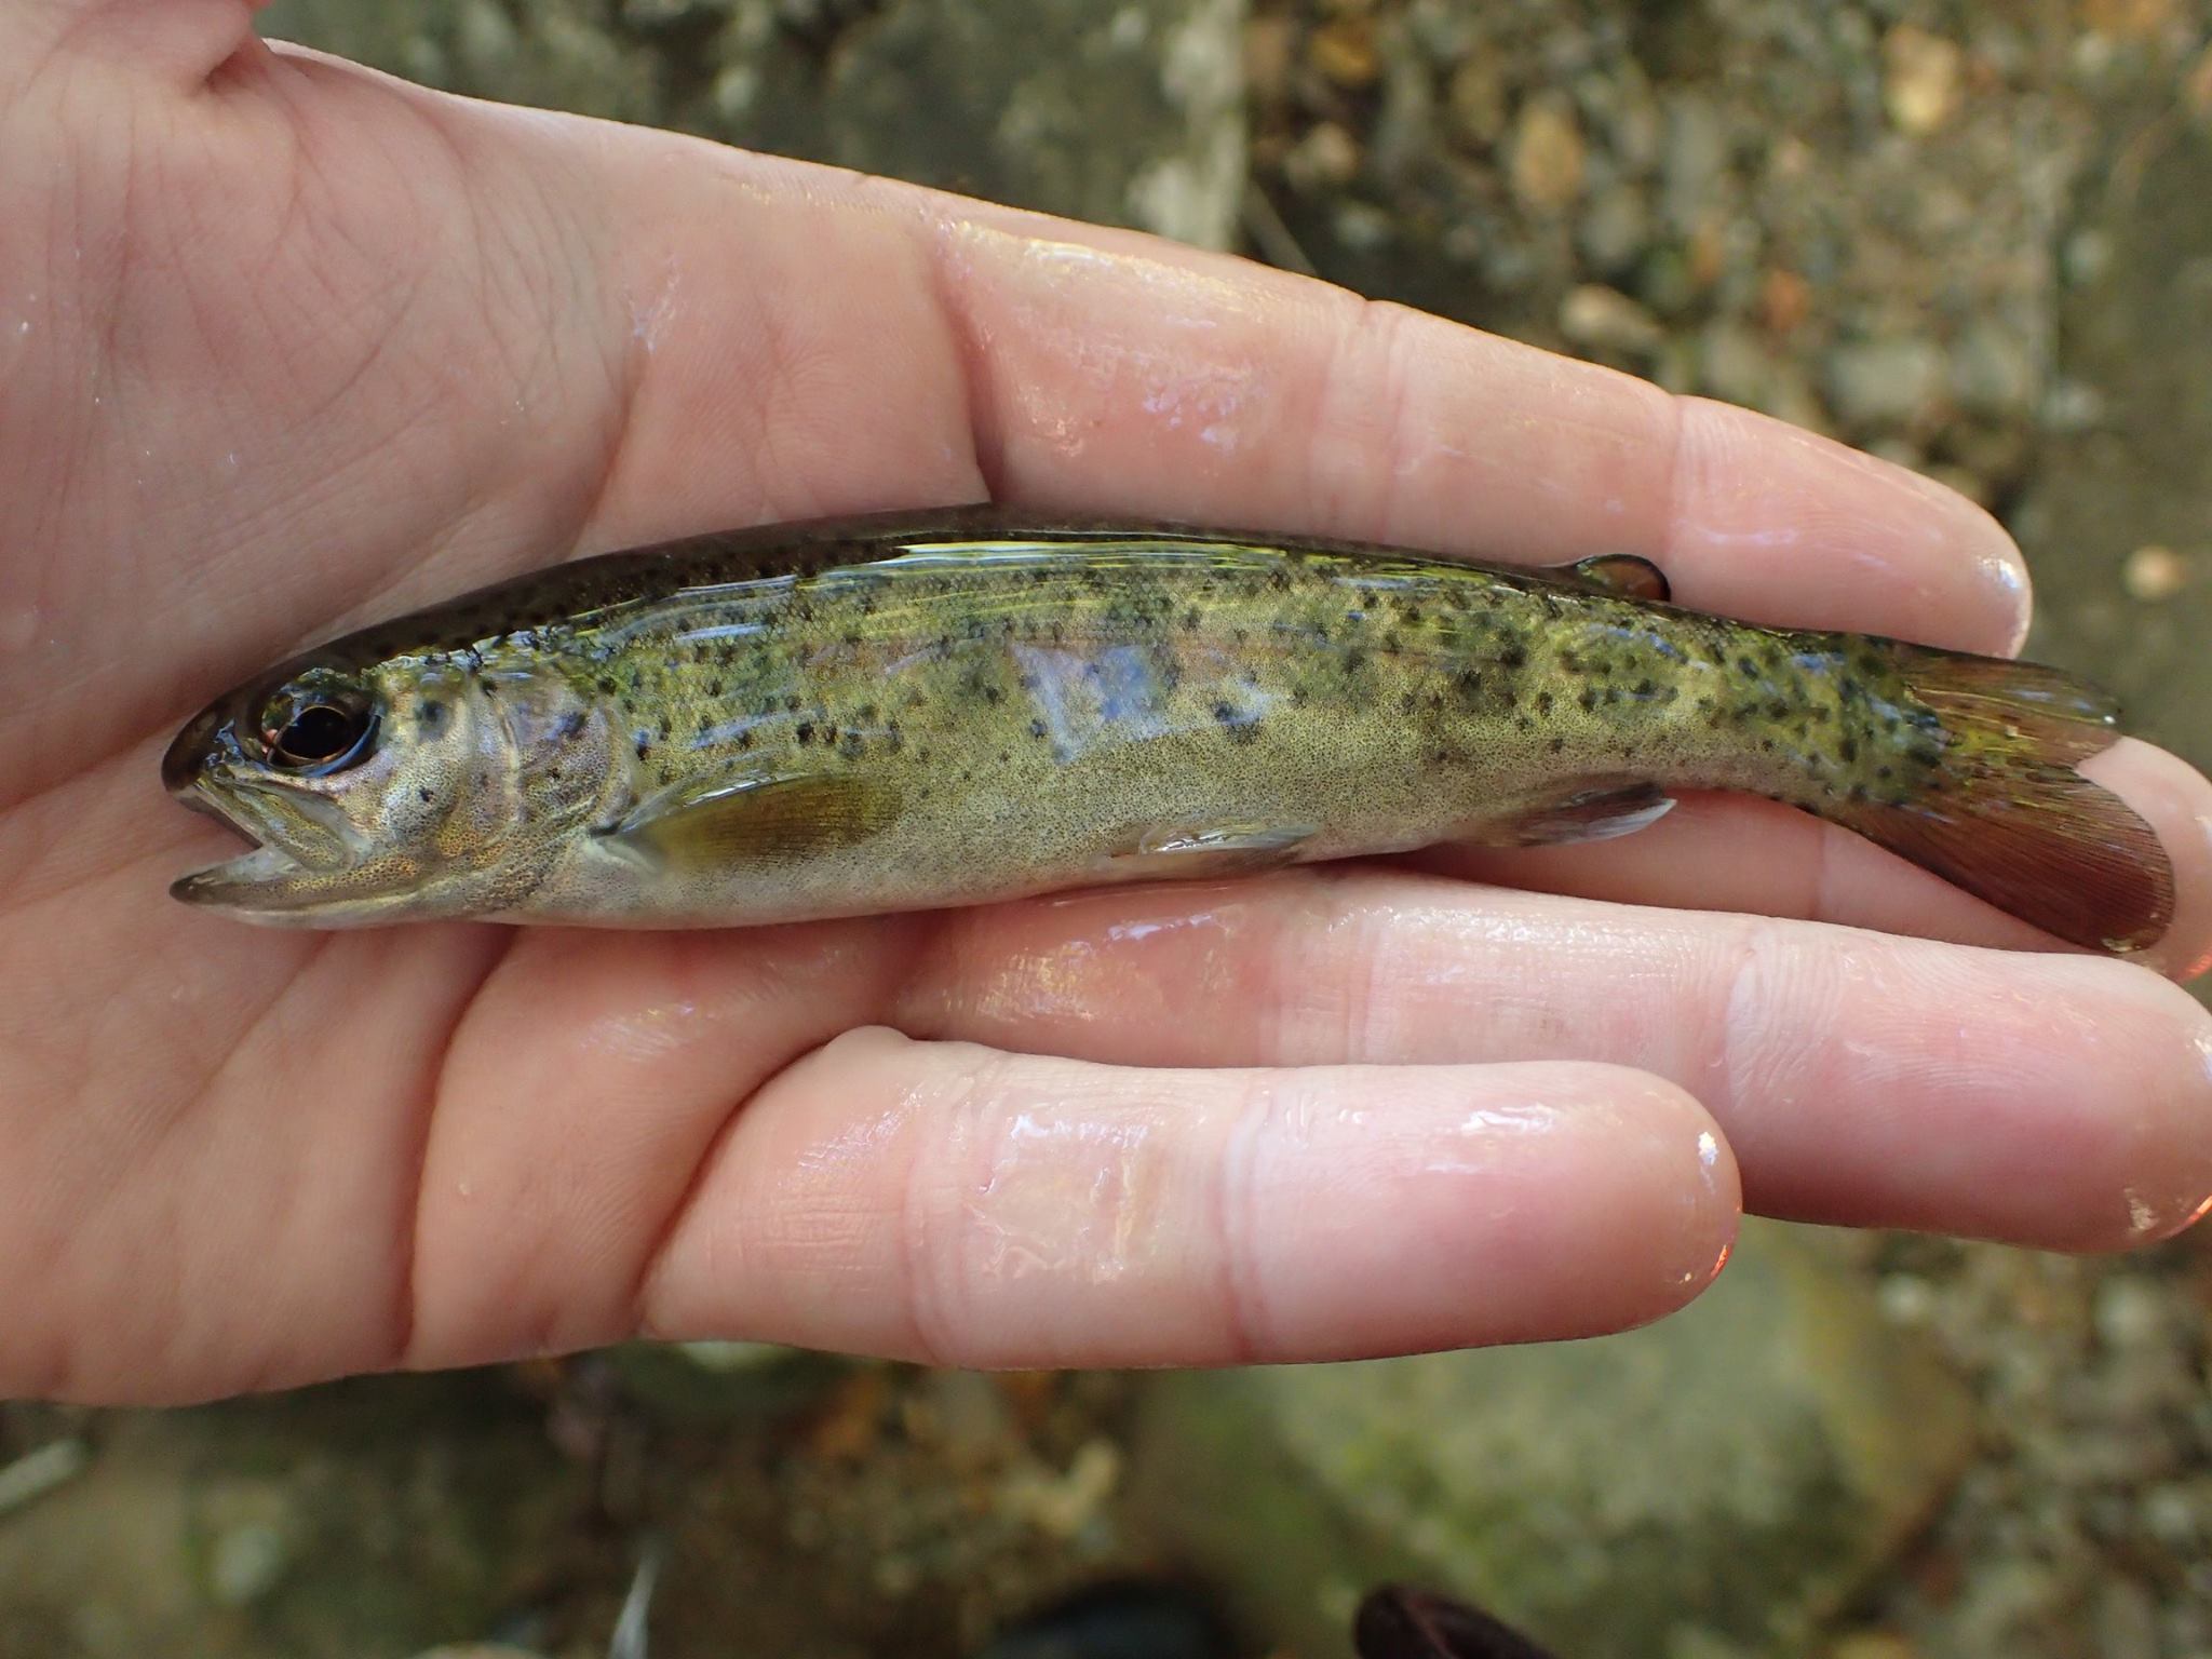
{"label": "reddish-brown forked tail fin of the fish", "polygon": [[2148,823],[2075,772],[2119,737],[2119,706],[2057,668],[1898,648],[1944,728],[1931,787],[1856,803],[1858,834],[2073,945],[2139,951],[2174,918],[2174,867]]}

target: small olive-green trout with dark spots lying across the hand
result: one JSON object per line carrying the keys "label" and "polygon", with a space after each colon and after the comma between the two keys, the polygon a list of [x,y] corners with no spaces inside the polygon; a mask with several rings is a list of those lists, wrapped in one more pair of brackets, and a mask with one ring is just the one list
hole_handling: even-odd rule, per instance
{"label": "small olive-green trout with dark spots lying across the hand", "polygon": [[1767,628],[1648,560],[1004,507],[555,564],[270,668],[170,743],[254,847],[173,894],[292,927],[739,927],[1630,834],[1686,790],[1843,825],[2079,947],[2172,920],[2035,664]]}

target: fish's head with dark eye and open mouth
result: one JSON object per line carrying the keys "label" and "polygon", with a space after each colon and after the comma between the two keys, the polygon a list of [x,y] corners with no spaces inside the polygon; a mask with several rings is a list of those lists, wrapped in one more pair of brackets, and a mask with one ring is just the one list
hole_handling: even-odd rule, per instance
{"label": "fish's head with dark eye and open mouth", "polygon": [[168,792],[254,843],[170,894],[292,927],[495,914],[619,772],[608,721],[542,661],[325,650],[217,699],[170,743]]}

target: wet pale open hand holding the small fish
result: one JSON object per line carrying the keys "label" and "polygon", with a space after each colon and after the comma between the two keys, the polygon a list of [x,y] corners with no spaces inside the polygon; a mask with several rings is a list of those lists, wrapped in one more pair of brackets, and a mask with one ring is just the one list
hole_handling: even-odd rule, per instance
{"label": "wet pale open hand holding the small fish", "polygon": [[[168,878],[192,708],[564,557],[998,495],[1517,560],[2008,650],[1978,509],[1316,283],[0,0],[0,1394],[624,1336],[949,1365],[1579,1336],[1739,1206],[2066,1250],[2212,1194],[2179,918],[2048,947],[1776,807],[1630,841],[759,933],[270,933]],[[1513,883],[1489,885],[1489,883]],[[2166,978],[2161,978],[2166,975]]]}

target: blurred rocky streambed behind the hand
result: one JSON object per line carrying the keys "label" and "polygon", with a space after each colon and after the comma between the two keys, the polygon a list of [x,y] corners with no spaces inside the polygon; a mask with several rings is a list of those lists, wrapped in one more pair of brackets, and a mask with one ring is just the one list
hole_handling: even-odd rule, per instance
{"label": "blurred rocky streambed behind the hand", "polygon": [[[265,29],[1239,248],[1829,431],[2000,513],[2033,648],[2212,765],[2212,0],[276,0]],[[1752,1228],[1657,1329],[1371,1367],[639,1347],[0,1407],[0,1659],[1077,1659],[1108,1648],[1009,1630],[1130,1575],[1230,1619],[1091,1606],[1148,1659],[1340,1659],[1391,1575],[1562,1659],[2205,1659],[2212,1250]]]}

